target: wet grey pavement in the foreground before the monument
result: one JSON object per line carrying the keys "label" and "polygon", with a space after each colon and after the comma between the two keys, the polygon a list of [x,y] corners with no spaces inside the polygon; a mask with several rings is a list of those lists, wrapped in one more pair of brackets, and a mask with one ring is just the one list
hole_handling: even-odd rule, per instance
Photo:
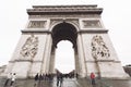
{"label": "wet grey pavement in the foreground before the monument", "polygon": [[[4,78],[0,78],[0,87],[4,87]],[[36,84],[36,85],[35,85]],[[5,87],[11,87],[10,83]],[[13,87],[57,87],[57,79],[40,80],[16,79]],[[60,87],[60,86],[58,86]],[[96,85],[92,86],[88,78],[64,78],[61,87],[131,87],[131,79],[96,79]]]}

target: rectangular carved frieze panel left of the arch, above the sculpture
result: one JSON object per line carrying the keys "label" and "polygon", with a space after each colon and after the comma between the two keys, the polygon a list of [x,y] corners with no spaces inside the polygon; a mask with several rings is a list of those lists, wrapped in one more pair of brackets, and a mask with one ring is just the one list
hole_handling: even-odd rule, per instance
{"label": "rectangular carved frieze panel left of the arch, above the sculpture", "polygon": [[46,21],[31,21],[28,24],[28,28],[45,28]]}

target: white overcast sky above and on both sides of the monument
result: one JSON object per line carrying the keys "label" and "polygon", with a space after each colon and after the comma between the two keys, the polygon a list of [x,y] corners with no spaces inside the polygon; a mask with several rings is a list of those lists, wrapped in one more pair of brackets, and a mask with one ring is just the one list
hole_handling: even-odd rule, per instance
{"label": "white overcast sky above and on both sides of the monument", "polygon": [[1,0],[0,1],[0,65],[11,59],[25,28],[26,9],[48,4],[97,4],[104,8],[102,18],[122,65],[131,64],[130,0]]}

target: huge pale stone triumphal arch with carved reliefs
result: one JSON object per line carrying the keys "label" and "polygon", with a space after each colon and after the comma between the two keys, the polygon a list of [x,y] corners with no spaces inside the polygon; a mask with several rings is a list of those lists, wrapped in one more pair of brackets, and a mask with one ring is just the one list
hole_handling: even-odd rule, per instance
{"label": "huge pale stone triumphal arch with carved reliefs", "polygon": [[127,78],[116,54],[108,29],[97,5],[34,5],[27,9],[28,22],[3,73],[16,73],[19,78],[36,73],[55,73],[57,44],[73,45],[75,73],[81,77],[92,72],[98,77]]}

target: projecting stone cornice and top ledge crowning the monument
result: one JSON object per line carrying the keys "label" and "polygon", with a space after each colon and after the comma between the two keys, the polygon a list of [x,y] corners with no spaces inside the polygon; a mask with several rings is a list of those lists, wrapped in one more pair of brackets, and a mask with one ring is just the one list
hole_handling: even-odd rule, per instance
{"label": "projecting stone cornice and top ledge crowning the monument", "polygon": [[44,14],[100,14],[102,8],[97,5],[34,5],[27,9],[28,15]]}

